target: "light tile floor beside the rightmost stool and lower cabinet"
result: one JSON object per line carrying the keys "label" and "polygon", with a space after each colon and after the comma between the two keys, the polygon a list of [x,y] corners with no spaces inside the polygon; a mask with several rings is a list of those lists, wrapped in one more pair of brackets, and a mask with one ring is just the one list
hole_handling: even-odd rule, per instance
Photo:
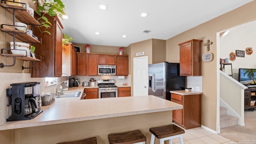
{"label": "light tile floor beside the rightmost stool and lower cabinet", "polygon": [[[185,130],[182,136],[184,144],[235,144],[233,141],[201,127]],[[172,143],[179,144],[179,139],[174,138]]]}

